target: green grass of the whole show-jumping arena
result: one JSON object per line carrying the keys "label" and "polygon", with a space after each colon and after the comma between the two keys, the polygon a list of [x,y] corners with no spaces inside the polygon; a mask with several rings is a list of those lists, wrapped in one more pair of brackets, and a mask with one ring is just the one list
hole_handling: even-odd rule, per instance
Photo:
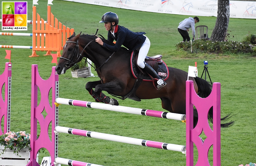
{"label": "green grass of the whole show-jumping arena", "polygon": [[[37,12],[46,20],[46,0],[38,1]],[[255,64],[256,58],[250,54],[187,54],[177,51],[175,45],[182,40],[177,32],[180,21],[189,16],[140,12],[119,8],[88,5],[68,1],[53,1],[51,12],[64,25],[74,28],[76,33],[98,34],[107,37],[103,24],[98,23],[105,12],[118,14],[120,25],[133,31],[145,31],[151,41],[149,56],[163,55],[163,61],[170,67],[187,71],[188,65],[198,63],[201,76],[203,61],[208,60],[208,70],[213,82],[221,83],[221,115],[237,114],[231,118],[234,126],[221,129],[221,163],[223,166],[234,166],[256,162],[255,130]],[[32,20],[32,1],[28,1],[29,16]],[[207,25],[208,34],[214,28],[216,17],[199,17],[197,25]],[[32,25],[28,25],[32,32]],[[230,19],[229,29],[232,40],[241,41],[248,34],[255,34],[255,19]],[[17,31],[16,31],[17,32]],[[31,45],[31,37],[1,36],[1,45]],[[11,96],[11,131],[30,132],[31,112],[31,65],[38,64],[40,76],[48,79],[51,74],[50,56],[37,52],[39,57],[29,58],[32,51],[11,49],[12,56],[12,96]],[[5,49],[0,49],[0,74],[4,70]],[[97,75],[95,71],[92,71]],[[204,78],[204,76],[203,76]],[[77,100],[93,101],[85,89],[88,81],[99,78],[72,78],[70,70],[59,76],[59,96]],[[209,78],[207,76],[207,81]],[[119,100],[120,105],[152,110],[165,111],[161,108],[160,99],[141,102],[126,99]],[[116,134],[133,138],[185,145],[185,125],[179,121],[125,114],[82,107],[61,105],[59,107],[61,126],[89,131]],[[212,148],[210,149],[212,152]],[[196,150],[195,150],[196,155]],[[47,153],[39,155],[39,163]],[[94,138],[84,138],[69,134],[59,134],[59,157],[95,163],[105,166],[117,165],[185,165],[186,157],[179,152],[154,149],[123,143],[115,143]],[[209,155],[212,160],[212,155]],[[196,158],[195,158],[196,160]],[[210,161],[212,163],[212,161]]]}

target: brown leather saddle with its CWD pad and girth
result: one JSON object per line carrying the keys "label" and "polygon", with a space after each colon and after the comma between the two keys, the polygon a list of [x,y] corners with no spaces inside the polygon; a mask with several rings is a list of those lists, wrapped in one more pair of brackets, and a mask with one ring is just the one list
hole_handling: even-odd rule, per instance
{"label": "brown leather saddle with its CWD pad and girth", "polygon": [[[162,55],[156,55],[156,56],[152,56],[152,57],[146,56],[145,62],[148,65],[150,65],[157,72],[157,74],[160,77],[162,77],[164,80],[166,80],[169,76],[169,70],[168,70],[167,65],[161,60],[161,58],[162,58]],[[136,92],[137,88],[139,87],[139,85],[141,84],[141,82],[142,81],[152,81],[152,83],[156,87],[156,85],[155,85],[156,81],[153,81],[154,78],[152,78],[147,73],[143,72],[142,69],[140,67],[138,67],[137,60],[138,60],[138,51],[134,50],[131,53],[130,62],[131,62],[131,73],[134,76],[134,78],[136,78],[136,81],[135,81],[134,86],[131,89],[131,91],[123,97],[130,98],[135,101],[141,101],[141,99],[135,95],[135,92]]]}

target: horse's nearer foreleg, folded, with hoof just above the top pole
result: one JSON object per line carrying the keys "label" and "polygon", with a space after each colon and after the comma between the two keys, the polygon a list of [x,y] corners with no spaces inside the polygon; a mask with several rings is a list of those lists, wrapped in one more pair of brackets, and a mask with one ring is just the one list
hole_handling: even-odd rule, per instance
{"label": "horse's nearer foreleg, folded, with hoof just above the top pole", "polygon": [[111,105],[119,105],[118,101],[114,98],[110,98],[109,96],[106,96],[102,91],[121,91],[121,86],[117,83],[117,81],[111,81],[109,83],[104,83],[100,85],[96,85],[94,92],[102,99],[102,101],[105,104],[111,104]]}

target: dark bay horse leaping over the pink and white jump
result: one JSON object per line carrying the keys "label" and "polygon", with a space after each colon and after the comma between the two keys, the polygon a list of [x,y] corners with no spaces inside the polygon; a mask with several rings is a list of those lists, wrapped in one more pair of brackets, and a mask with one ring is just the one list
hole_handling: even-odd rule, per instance
{"label": "dark bay horse leaping over the pink and white jump", "polygon": [[[132,90],[136,79],[131,73],[131,51],[120,48],[118,52],[111,52],[96,43],[96,38],[94,35],[84,34],[75,36],[74,33],[63,47],[63,53],[56,66],[56,71],[58,74],[64,74],[67,69],[81,61],[83,57],[90,59],[95,64],[95,70],[100,80],[86,83],[86,90],[96,102],[118,105],[117,100],[110,99],[102,91],[115,96],[126,96]],[[105,39],[102,39],[102,41],[113,45]],[[163,109],[173,113],[186,114],[186,80],[188,73],[176,68],[168,67],[168,69],[169,77],[166,79],[166,86],[157,90],[152,82],[142,81],[135,95],[139,99],[160,98]],[[200,97],[209,96],[211,84],[199,77],[189,77],[189,80],[194,81],[195,91]],[[208,118],[211,122],[212,117],[212,109],[210,109]],[[230,118],[230,115],[221,118],[221,120],[227,120],[228,118]],[[194,126],[197,121],[198,114],[194,109]],[[233,121],[223,123],[221,127],[230,127],[233,123]]]}

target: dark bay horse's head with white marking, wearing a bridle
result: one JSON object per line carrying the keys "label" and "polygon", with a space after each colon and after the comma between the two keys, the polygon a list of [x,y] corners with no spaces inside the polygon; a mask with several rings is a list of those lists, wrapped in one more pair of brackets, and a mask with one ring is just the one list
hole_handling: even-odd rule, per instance
{"label": "dark bay horse's head with white marking, wearing a bridle", "polygon": [[80,34],[76,36],[74,32],[63,46],[62,55],[56,66],[56,71],[58,74],[64,74],[67,69],[71,68],[75,63],[82,60],[83,57],[81,54],[79,54],[79,37]]}

